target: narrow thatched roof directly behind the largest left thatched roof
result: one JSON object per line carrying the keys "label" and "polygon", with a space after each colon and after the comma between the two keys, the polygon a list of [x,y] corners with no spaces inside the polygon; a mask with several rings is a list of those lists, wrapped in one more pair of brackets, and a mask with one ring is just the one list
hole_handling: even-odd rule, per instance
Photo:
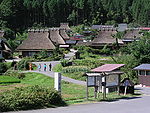
{"label": "narrow thatched roof directly behind the largest left thatched roof", "polygon": [[56,45],[65,44],[63,37],[61,37],[59,34],[60,32],[59,28],[50,28],[49,32],[50,32],[50,39],[52,40],[53,43],[55,43]]}

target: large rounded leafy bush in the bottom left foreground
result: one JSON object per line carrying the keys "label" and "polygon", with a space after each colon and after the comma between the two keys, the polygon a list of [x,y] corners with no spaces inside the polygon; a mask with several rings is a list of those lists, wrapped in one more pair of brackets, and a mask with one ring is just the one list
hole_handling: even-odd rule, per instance
{"label": "large rounded leafy bush in the bottom left foreground", "polygon": [[0,96],[0,111],[39,109],[54,105],[65,105],[60,94],[40,86],[16,88]]}

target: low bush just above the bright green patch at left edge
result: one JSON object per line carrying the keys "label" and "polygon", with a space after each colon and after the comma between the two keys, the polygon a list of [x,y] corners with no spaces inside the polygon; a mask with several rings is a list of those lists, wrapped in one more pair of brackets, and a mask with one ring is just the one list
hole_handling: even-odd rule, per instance
{"label": "low bush just above the bright green patch at left edge", "polygon": [[25,77],[24,73],[19,73],[18,71],[14,71],[14,70],[7,70],[4,73],[4,75],[13,76],[13,77],[16,77],[16,78],[19,78],[19,79],[23,79]]}

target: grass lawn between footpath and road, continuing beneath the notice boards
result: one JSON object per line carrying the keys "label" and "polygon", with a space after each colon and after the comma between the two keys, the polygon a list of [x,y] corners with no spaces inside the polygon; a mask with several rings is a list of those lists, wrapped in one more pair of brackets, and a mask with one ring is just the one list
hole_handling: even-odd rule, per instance
{"label": "grass lawn between footpath and road, continuing beneath the notice boards", "polygon": [[[40,85],[44,87],[54,87],[54,79],[39,73],[26,73],[26,77],[21,79],[20,83],[13,83],[8,85],[0,84],[0,93],[7,90],[13,90],[15,87],[26,87],[29,85]],[[86,87],[82,85],[77,85],[69,82],[62,81],[62,97],[67,102],[67,104],[78,104],[78,103],[89,103],[103,101],[103,96],[100,93],[98,99],[94,99],[93,88],[89,88],[89,100],[86,100]],[[134,95],[120,95],[117,93],[107,94],[107,99],[105,101],[114,101],[120,98],[133,97]]]}

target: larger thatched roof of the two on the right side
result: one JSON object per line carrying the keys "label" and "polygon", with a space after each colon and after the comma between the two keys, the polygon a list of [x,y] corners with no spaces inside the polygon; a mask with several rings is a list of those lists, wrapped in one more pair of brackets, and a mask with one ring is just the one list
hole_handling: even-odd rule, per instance
{"label": "larger thatched roof of the two on the right side", "polygon": [[[113,38],[113,35],[117,33],[116,30],[100,30],[98,36],[92,41],[92,46],[104,45],[104,44],[113,44],[116,42],[116,39]],[[123,42],[119,39],[119,44]]]}

